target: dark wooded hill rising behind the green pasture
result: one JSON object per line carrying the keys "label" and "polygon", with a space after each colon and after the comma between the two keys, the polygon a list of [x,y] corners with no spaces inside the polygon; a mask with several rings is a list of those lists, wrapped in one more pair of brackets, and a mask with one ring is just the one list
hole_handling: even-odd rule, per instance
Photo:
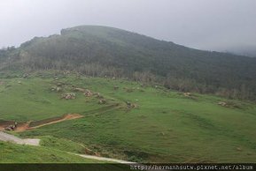
{"label": "dark wooded hill rising behind the green pasture", "polygon": [[256,58],[186,48],[105,26],[77,26],[0,51],[2,70],[65,70],[255,100]]}

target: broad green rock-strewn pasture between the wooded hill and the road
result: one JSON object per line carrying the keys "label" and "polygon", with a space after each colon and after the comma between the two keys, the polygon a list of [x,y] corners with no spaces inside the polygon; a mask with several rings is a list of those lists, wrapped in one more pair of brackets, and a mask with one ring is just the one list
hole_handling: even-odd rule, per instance
{"label": "broad green rock-strewn pasture between the wooded hill and the road", "polygon": [[[0,120],[84,115],[19,133],[24,138],[44,136],[44,145],[54,149],[83,152],[80,145],[84,145],[102,156],[144,162],[256,162],[256,105],[252,102],[193,93],[184,96],[126,79],[52,71],[28,78],[9,74],[0,80]],[[59,92],[55,91],[58,86]],[[61,99],[74,87],[100,93],[106,104],[80,92],[75,92],[74,100]],[[136,108],[128,108],[127,101]],[[228,105],[218,105],[221,101]],[[73,143],[61,145],[55,138]]]}

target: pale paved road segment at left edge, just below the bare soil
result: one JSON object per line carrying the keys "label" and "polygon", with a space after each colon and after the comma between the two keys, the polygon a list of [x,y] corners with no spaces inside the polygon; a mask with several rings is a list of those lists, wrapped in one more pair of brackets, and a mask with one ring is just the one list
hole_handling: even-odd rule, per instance
{"label": "pale paved road segment at left edge, just below the bare soil", "polygon": [[37,138],[21,139],[0,131],[0,141],[12,142],[19,145],[39,145],[40,139],[37,139]]}

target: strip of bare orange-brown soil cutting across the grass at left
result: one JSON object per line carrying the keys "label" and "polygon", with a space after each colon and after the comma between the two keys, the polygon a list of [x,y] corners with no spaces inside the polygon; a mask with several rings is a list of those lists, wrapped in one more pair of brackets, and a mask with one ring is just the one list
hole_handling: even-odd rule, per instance
{"label": "strip of bare orange-brown soil cutting across the grass at left", "polygon": [[[30,123],[31,122],[27,122],[27,123],[18,123],[16,130],[14,130],[15,132],[21,132],[21,131],[25,131],[25,130],[32,130],[32,129],[36,129],[36,128],[40,128],[43,127],[45,125],[49,125],[49,124],[53,124],[53,123],[60,123],[60,122],[64,122],[66,120],[72,120],[72,119],[78,119],[83,117],[83,115],[80,114],[67,114],[64,115],[62,117],[58,117],[57,119],[54,118],[51,121],[49,120],[48,122],[42,122],[36,126],[32,126],[30,127]],[[6,122],[1,122],[0,123],[0,130],[4,130],[4,128],[10,124],[13,124],[14,122],[10,122],[10,121],[6,121]]]}

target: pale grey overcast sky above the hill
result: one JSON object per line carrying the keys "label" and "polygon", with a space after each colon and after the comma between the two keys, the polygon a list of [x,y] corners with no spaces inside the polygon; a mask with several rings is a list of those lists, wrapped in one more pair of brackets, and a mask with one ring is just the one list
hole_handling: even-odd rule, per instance
{"label": "pale grey overcast sky above the hill", "polygon": [[81,25],[192,48],[256,48],[256,0],[0,0],[0,48]]}

